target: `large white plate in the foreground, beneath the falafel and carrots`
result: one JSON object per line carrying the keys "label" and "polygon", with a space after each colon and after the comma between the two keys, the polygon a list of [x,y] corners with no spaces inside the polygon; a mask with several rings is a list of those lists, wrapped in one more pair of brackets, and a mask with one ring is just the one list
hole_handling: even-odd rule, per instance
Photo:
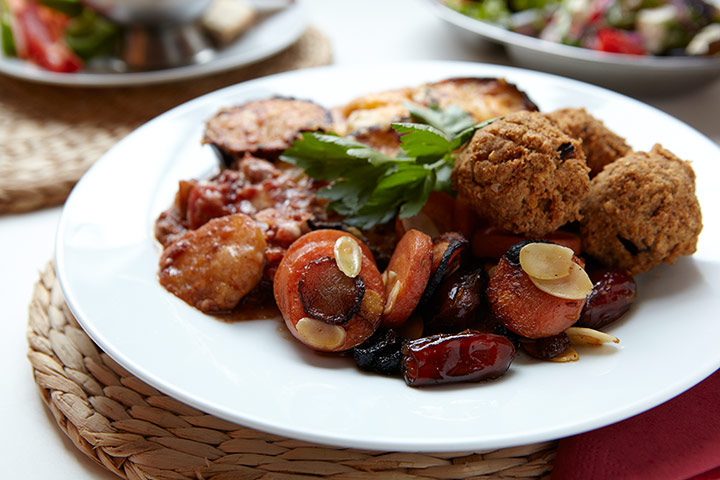
{"label": "large white plate in the foreground, beneath the falafel and carrots", "polygon": [[[220,107],[271,95],[332,106],[387,88],[456,76],[506,77],[542,110],[584,106],[637,149],[659,140],[694,159],[705,230],[698,252],[638,278],[619,346],[583,349],[570,364],[519,357],[484,384],[413,389],[293,340],[279,319],[224,323],[157,282],[158,214],[180,179],[217,168],[201,146]],[[574,80],[472,63],[319,68],[235,85],[181,105],[118,143],[72,192],[56,266],[70,308],[117,362],[219,417],[308,441],[400,451],[508,447],[601,427],[654,407],[720,366],[720,149],[680,121]]]}

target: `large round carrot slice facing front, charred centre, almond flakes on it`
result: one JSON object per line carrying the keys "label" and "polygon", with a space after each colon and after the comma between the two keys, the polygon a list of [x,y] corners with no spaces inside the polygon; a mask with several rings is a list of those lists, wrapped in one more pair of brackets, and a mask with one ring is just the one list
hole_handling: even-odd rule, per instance
{"label": "large round carrot slice facing front, charred centre, almond flakes on it", "polygon": [[[348,237],[359,250],[354,277],[340,270],[335,245]],[[380,324],[384,285],[370,249],[340,230],[316,230],[288,249],[273,281],[290,332],[309,347],[339,352],[359,345]]]}

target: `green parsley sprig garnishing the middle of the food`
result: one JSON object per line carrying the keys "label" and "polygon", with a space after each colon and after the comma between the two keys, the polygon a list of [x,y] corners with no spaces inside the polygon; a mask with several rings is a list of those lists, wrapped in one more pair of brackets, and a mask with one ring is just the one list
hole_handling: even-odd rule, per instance
{"label": "green parsley sprig garnishing the middle of the food", "polygon": [[315,179],[330,182],[317,195],[328,199],[328,209],[343,215],[350,225],[367,229],[398,214],[412,217],[431,192],[452,193],[454,152],[492,120],[475,124],[455,105],[445,110],[407,107],[421,123],[392,124],[401,135],[402,151],[397,157],[351,138],[307,132],[280,158]]}

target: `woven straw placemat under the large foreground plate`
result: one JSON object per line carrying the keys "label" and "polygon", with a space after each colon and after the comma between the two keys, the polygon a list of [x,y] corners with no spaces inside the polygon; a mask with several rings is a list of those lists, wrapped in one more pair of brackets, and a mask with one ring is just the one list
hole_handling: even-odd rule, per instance
{"label": "woven straw placemat under the large foreground plate", "polygon": [[85,455],[130,480],[539,479],[556,442],[456,453],[333,448],[242,427],[163,395],[102,352],[68,310],[52,265],[27,331],[35,382]]}

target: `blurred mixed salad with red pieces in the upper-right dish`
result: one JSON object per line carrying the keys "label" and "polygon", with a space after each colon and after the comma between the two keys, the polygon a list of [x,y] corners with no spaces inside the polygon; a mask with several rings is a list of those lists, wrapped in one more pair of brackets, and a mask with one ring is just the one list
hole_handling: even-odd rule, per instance
{"label": "blurred mixed salad with red pieces in the upper-right dish", "polygon": [[444,0],[458,12],[552,42],[630,55],[720,56],[720,9],[705,0]]}

